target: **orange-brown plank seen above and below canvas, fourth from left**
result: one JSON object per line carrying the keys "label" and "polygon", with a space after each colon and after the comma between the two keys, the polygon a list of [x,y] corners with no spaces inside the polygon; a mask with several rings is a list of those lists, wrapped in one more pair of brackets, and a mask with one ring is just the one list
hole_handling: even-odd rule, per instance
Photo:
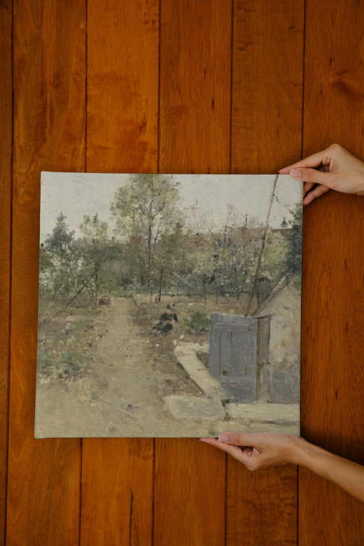
{"label": "orange-brown plank seen above and below canvas, fourth from left", "polygon": [[[159,172],[228,173],[231,3],[161,2]],[[225,457],[156,439],[154,544],[224,544]]]}

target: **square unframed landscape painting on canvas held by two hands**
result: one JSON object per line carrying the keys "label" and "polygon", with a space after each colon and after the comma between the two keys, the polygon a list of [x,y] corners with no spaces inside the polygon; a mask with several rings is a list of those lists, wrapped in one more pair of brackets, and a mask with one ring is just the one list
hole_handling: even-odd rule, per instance
{"label": "square unframed landscape painting on canvas held by two hands", "polygon": [[299,434],[302,186],[41,174],[35,437]]}

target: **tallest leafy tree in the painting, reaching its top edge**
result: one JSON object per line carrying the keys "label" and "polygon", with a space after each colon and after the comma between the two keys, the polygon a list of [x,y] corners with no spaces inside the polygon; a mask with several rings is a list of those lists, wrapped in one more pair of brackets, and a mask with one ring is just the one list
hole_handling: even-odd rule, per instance
{"label": "tallest leafy tree in the painting, reaching its top edge", "polygon": [[182,232],[177,187],[171,176],[131,175],[127,185],[118,188],[111,205],[116,230],[128,245],[135,283],[150,290],[160,284],[161,268],[167,264],[163,245],[171,238],[177,245]]}

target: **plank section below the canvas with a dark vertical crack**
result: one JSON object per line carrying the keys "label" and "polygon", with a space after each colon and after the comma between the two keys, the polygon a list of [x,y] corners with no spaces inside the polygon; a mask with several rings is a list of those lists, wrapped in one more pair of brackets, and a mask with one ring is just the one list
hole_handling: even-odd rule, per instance
{"label": "plank section below the canvas with a dark vertical crack", "polygon": [[81,544],[151,544],[152,492],[153,440],[83,440]]}

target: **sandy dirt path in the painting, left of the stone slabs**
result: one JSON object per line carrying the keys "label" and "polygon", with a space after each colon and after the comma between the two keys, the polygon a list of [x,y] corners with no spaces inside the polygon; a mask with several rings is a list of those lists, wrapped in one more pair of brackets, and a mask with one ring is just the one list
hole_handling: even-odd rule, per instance
{"label": "sandy dirt path in the painting, left of the stone slabs", "polygon": [[112,300],[92,371],[71,381],[37,385],[35,435],[194,436],[195,422],[176,422],[166,411],[163,387],[171,375],[153,369],[150,343],[130,320],[132,299]]}

